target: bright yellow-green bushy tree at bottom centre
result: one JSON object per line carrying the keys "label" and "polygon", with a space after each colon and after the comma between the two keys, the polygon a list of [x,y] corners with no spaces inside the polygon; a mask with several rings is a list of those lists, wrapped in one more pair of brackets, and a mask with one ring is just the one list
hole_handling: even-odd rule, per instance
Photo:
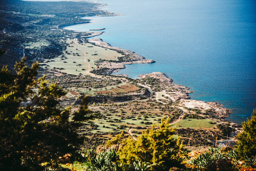
{"label": "bright yellow-green bushy tree at bottom centre", "polygon": [[134,161],[149,162],[153,170],[169,170],[182,167],[184,154],[180,138],[175,139],[175,129],[169,125],[169,119],[162,119],[159,127],[152,125],[134,141],[129,137],[119,152],[121,162],[131,165]]}

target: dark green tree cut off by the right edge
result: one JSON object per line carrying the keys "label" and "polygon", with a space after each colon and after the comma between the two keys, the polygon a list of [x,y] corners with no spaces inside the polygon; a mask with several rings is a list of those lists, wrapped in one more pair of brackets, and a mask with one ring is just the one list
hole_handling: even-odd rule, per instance
{"label": "dark green tree cut off by the right edge", "polygon": [[237,151],[243,158],[256,157],[256,111],[247,122],[243,123],[243,130],[237,135]]}

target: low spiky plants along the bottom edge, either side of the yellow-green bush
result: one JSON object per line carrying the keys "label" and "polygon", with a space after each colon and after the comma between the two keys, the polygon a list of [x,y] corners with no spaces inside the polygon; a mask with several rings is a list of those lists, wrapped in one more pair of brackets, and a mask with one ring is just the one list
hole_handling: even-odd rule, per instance
{"label": "low spiky plants along the bottom edge, either side of the yellow-green bush", "polygon": [[256,170],[255,158],[243,160],[236,149],[226,148],[208,148],[194,150],[188,153],[188,157],[183,158],[182,163],[186,168],[156,168],[158,164],[151,164],[141,160],[134,160],[131,164],[120,162],[119,154],[114,149],[107,149],[100,152],[88,150],[84,162],[84,168],[87,170]]}

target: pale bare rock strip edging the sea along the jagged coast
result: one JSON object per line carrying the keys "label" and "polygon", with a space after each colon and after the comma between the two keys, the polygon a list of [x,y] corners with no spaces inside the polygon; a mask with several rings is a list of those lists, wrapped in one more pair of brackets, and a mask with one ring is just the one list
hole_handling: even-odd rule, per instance
{"label": "pale bare rock strip edging the sea along the jagged coast", "polygon": [[[95,46],[100,46],[103,48],[108,48],[110,50],[115,50],[121,52],[124,55],[129,55],[131,58],[128,62],[109,62],[104,61],[100,64],[100,68],[108,68],[105,74],[112,74],[113,72],[119,71],[120,69],[125,68],[126,64],[133,63],[154,63],[154,60],[145,59],[145,57],[136,54],[133,51],[124,50],[119,47],[112,47],[111,44],[103,42],[100,38],[92,38],[88,40],[89,43],[94,44]],[[160,87],[163,89],[165,96],[168,97],[170,101],[180,101],[180,104],[187,108],[201,108],[204,111],[212,111],[214,116],[217,116],[220,119],[224,119],[229,116],[231,113],[230,109],[223,108],[221,104],[217,102],[205,102],[200,100],[190,100],[189,93],[193,93],[193,91],[189,90],[190,88],[181,86],[178,84],[174,84],[173,80],[168,78],[168,76],[162,72],[153,72],[152,74],[143,74],[139,75],[139,78],[156,78],[160,80]],[[151,89],[149,89],[151,91]]]}

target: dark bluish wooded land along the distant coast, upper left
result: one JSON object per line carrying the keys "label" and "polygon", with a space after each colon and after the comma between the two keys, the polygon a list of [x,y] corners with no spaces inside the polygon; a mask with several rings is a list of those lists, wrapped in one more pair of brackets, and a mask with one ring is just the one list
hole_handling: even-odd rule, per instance
{"label": "dark bluish wooded land along the distant coast, upper left", "polygon": [[[63,30],[63,27],[89,22],[81,17],[113,15],[96,10],[97,7],[99,4],[84,1],[1,1],[0,45],[1,49],[6,50],[0,59],[1,64],[14,66],[15,61],[18,61],[21,56],[27,56],[29,60],[42,60],[62,55],[67,48],[65,43],[67,38],[80,39],[92,34]],[[36,47],[35,43],[37,43]]]}

